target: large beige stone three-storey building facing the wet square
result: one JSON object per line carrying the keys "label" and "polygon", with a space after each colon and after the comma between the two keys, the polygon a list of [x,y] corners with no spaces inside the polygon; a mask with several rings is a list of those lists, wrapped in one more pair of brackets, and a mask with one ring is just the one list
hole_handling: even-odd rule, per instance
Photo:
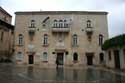
{"label": "large beige stone three-storey building facing the wet square", "polygon": [[16,64],[80,66],[105,63],[107,12],[16,12]]}

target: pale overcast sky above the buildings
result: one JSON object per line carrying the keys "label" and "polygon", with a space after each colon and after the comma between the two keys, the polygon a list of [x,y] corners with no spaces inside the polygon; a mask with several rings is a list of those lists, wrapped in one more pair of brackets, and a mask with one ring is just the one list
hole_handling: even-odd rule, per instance
{"label": "pale overcast sky above the buildings", "polygon": [[13,17],[16,11],[107,11],[109,37],[125,33],[125,0],[0,0],[0,6]]}

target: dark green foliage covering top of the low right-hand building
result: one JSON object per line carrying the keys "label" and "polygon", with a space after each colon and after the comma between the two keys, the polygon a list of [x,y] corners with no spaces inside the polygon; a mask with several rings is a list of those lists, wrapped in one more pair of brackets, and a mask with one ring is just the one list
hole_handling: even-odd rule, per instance
{"label": "dark green foliage covering top of the low right-hand building", "polygon": [[103,50],[107,50],[112,47],[125,46],[125,34],[118,35],[111,39],[108,39],[102,45]]}

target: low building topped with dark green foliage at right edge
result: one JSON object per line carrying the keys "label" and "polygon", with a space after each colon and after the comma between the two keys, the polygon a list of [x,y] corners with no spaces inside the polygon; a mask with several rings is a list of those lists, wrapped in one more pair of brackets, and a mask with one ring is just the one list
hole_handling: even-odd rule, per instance
{"label": "low building topped with dark green foliage at right edge", "polygon": [[106,40],[103,49],[106,67],[125,70],[125,34]]}

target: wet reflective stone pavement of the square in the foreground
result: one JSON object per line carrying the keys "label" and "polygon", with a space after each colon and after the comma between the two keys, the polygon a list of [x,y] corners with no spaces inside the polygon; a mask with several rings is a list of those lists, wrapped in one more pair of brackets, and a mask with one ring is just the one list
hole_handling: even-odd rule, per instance
{"label": "wet reflective stone pavement of the square in the foreground", "polygon": [[0,83],[125,83],[125,75],[94,67],[56,69],[0,64]]}

